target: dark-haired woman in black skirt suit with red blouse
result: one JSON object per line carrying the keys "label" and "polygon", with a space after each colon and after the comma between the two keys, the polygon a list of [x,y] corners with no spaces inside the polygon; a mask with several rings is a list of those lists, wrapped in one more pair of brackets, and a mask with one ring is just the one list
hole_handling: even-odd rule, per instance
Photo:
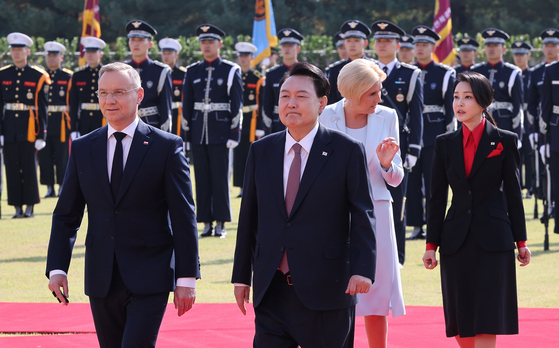
{"label": "dark-haired woman in black skirt suit with red blouse", "polygon": [[521,266],[531,256],[518,138],[495,126],[492,100],[483,75],[458,75],[453,107],[462,127],[437,137],[433,157],[423,263],[437,267],[440,248],[446,335],[462,348],[495,347],[496,335],[518,333],[515,243]]}

